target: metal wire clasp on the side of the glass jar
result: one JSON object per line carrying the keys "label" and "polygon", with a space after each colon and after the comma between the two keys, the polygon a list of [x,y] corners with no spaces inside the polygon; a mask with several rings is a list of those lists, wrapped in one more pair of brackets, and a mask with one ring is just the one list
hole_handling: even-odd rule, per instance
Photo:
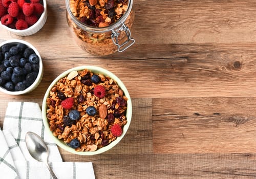
{"label": "metal wire clasp on the side of the glass jar", "polygon": [[[122,31],[125,32],[125,34],[127,36],[127,40],[125,40],[123,43],[119,44],[118,36],[120,35],[120,33]],[[135,42],[135,40],[133,38],[131,38],[130,29],[124,23],[122,23],[122,25],[118,29],[112,30],[111,38],[112,38],[113,43],[118,47],[118,52],[125,51],[126,49],[131,47]]]}

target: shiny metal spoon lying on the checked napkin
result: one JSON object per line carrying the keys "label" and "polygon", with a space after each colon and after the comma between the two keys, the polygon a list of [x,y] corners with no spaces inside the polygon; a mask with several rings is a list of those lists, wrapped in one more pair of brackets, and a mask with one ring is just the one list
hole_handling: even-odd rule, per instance
{"label": "shiny metal spoon lying on the checked napkin", "polygon": [[52,177],[54,179],[57,179],[56,175],[48,164],[49,150],[45,142],[34,132],[27,132],[25,141],[27,149],[31,156],[39,162],[44,162],[49,169]]}

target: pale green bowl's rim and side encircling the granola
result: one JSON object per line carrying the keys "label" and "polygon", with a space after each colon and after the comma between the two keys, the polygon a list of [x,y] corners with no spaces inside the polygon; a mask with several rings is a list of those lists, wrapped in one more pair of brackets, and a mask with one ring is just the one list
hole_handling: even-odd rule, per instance
{"label": "pale green bowl's rim and side encircling the granola", "polygon": [[[47,98],[49,96],[49,93],[50,93],[51,89],[53,88],[53,86],[57,83],[57,81],[59,79],[61,79],[63,77],[66,77],[70,72],[72,72],[72,71],[82,71],[84,69],[88,69],[88,70],[92,71],[93,73],[98,73],[98,74],[103,74],[105,76],[109,76],[110,78],[112,78],[113,80],[115,80],[117,82],[117,84],[122,89],[124,95],[128,98],[128,100],[127,100],[127,110],[126,110],[127,123],[123,126],[122,135],[120,137],[117,137],[116,140],[111,142],[109,145],[104,146],[102,148],[99,148],[96,151],[75,151],[75,149],[69,147],[65,142],[63,142],[62,140],[59,140],[57,137],[53,136],[53,132],[50,130],[49,121],[46,117],[46,114],[47,114],[46,100],[47,100]],[[53,82],[50,84],[50,86],[48,87],[48,89],[46,91],[44,100],[42,102],[42,120],[43,120],[44,125],[45,125],[45,130],[47,131],[49,136],[62,149],[65,149],[65,150],[67,150],[71,153],[79,154],[79,155],[95,155],[95,154],[99,154],[99,153],[105,152],[107,150],[110,150],[111,148],[113,148],[116,144],[118,144],[122,140],[122,138],[124,137],[125,133],[127,132],[128,128],[129,128],[131,120],[132,120],[132,101],[131,101],[131,97],[129,95],[129,92],[127,91],[127,89],[124,86],[124,84],[122,83],[122,81],[116,75],[111,73],[110,71],[99,68],[97,66],[78,66],[76,68],[73,68],[73,69],[70,69],[70,70],[67,70],[67,71],[63,72],[57,78],[55,78],[53,80]]]}

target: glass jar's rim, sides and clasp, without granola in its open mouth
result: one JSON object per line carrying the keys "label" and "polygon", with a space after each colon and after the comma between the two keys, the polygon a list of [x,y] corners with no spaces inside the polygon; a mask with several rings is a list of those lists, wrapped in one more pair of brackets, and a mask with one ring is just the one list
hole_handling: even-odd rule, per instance
{"label": "glass jar's rim, sides and clasp, without granola in its open mouth", "polygon": [[[73,5],[71,5],[71,1]],[[66,0],[67,21],[78,46],[93,55],[110,55],[123,52],[134,44],[131,28],[134,22],[133,0],[128,0],[124,14],[107,27],[92,27],[82,23],[74,15],[74,3],[77,0]],[[71,8],[73,7],[73,9]],[[73,13],[72,13],[73,11]],[[75,10],[76,11],[76,10]]]}

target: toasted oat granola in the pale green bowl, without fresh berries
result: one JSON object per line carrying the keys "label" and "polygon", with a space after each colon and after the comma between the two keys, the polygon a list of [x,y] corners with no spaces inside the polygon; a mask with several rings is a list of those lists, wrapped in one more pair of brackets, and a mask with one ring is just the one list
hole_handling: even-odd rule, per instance
{"label": "toasted oat granola in the pale green bowl, without fresh berries", "polygon": [[[92,80],[93,72],[85,69],[71,72],[52,87],[47,98],[47,119],[53,135],[68,145],[72,140],[79,141],[76,151],[94,151],[116,140],[111,127],[119,124],[123,127],[127,123],[127,98],[116,81],[103,74],[96,74],[99,82]],[[72,78],[73,76],[73,78]],[[94,88],[102,85],[105,95],[102,98],[94,94]],[[63,107],[66,99],[74,101],[71,108]],[[94,107],[96,114],[87,110]],[[79,113],[78,119],[70,116],[72,110]],[[70,118],[70,119],[69,119]],[[72,146],[71,146],[72,147]]]}

